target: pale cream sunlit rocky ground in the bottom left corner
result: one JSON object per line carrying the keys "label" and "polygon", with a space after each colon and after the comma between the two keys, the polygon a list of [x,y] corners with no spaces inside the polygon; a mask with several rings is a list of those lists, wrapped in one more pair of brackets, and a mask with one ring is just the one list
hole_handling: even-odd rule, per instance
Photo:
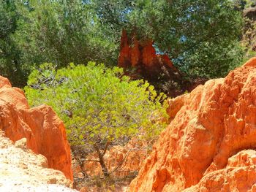
{"label": "pale cream sunlit rocky ground in the bottom left corner", "polygon": [[0,191],[74,191],[71,180],[47,159],[26,147],[26,139],[13,142],[0,130]]}

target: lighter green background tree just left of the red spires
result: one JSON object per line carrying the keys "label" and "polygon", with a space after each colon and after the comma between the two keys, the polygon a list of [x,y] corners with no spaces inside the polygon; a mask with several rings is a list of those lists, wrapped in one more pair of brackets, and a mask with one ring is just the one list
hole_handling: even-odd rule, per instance
{"label": "lighter green background tree just left of the red spires", "polygon": [[101,33],[86,1],[31,0],[17,4],[23,20],[15,37],[23,51],[23,63],[53,62],[61,67],[69,62],[116,61],[117,46]]}

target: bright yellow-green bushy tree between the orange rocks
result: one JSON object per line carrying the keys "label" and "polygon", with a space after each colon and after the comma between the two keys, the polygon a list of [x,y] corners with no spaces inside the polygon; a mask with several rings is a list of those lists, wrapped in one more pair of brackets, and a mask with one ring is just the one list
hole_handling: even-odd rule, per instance
{"label": "bright yellow-green bushy tree between the orange rocks", "polygon": [[55,70],[44,64],[30,74],[25,91],[32,106],[53,107],[64,120],[72,146],[86,145],[97,152],[105,176],[104,155],[110,145],[141,135],[156,139],[165,127],[165,95],[158,96],[148,82],[130,81],[117,67],[90,62]]}

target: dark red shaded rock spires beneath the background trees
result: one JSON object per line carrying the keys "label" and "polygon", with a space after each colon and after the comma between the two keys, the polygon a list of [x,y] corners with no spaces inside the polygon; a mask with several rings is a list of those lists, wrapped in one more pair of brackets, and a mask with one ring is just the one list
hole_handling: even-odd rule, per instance
{"label": "dark red shaded rock spires beneath the background trees", "polygon": [[193,82],[186,80],[176,69],[167,55],[157,54],[151,39],[138,41],[134,35],[128,38],[123,30],[118,57],[118,66],[126,69],[133,79],[148,80],[158,90],[168,96],[178,96],[184,91],[190,91],[195,84],[206,80],[197,79]]}

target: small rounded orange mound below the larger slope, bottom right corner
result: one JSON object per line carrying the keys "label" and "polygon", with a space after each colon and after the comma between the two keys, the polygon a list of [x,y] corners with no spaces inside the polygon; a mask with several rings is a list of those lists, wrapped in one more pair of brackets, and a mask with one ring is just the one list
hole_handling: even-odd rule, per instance
{"label": "small rounded orange mound below the larger slope, bottom right corner", "polygon": [[256,191],[256,151],[242,150],[227,161],[225,169],[206,174],[185,191]]}

